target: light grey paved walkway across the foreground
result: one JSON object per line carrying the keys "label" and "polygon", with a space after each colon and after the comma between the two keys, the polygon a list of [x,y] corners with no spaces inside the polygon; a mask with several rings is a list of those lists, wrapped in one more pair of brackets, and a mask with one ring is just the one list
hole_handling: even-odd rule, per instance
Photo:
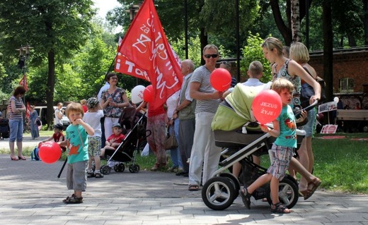
{"label": "light grey paved walkway across the foreground", "polygon": [[228,209],[214,211],[202,202],[201,191],[188,191],[188,178],[151,171],[88,178],[84,203],[65,205],[62,199],[71,192],[65,174],[57,178],[63,162],[27,159],[15,162],[0,154],[0,224],[368,225],[368,195],[318,190],[307,201],[299,198],[292,214],[272,214],[260,200],[248,210],[238,197]]}

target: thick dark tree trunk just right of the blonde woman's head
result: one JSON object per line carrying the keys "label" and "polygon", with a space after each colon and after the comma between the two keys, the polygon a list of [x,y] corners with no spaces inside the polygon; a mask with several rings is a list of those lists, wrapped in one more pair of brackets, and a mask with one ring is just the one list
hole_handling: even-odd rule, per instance
{"label": "thick dark tree trunk just right of the blonde woman's head", "polygon": [[326,82],[326,102],[333,100],[333,31],[332,10],[328,0],[323,0],[323,79]]}

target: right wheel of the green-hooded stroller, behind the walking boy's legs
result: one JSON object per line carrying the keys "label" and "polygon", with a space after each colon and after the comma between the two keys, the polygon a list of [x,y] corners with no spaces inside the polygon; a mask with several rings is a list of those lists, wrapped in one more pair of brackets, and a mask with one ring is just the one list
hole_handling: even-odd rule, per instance
{"label": "right wheel of the green-hooded stroller, behind the walking boy's legs", "polygon": [[[267,195],[267,200],[272,204],[271,192]],[[297,204],[299,199],[298,186],[287,176],[279,183],[279,199],[284,207],[291,209]]]}

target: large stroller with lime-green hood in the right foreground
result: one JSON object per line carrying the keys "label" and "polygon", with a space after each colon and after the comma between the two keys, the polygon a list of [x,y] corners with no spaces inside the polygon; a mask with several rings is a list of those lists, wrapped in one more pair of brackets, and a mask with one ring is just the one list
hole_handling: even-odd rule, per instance
{"label": "large stroller with lime-green hood in the right foreground", "polygon": [[[215,171],[214,174],[212,174],[213,177],[209,178],[202,188],[202,200],[210,209],[226,209],[234,202],[236,197],[238,197],[238,191],[241,188],[238,178],[233,174],[225,172],[230,166],[233,166],[236,162],[241,162],[243,169],[242,183],[246,186],[249,186],[267,171],[267,169],[262,166],[258,166],[251,162],[250,157],[255,153],[268,154],[268,150],[271,149],[275,138],[268,133],[263,133],[262,130],[257,127],[251,126],[254,123],[250,123],[246,126],[247,133],[243,133],[243,126],[241,125],[241,123],[244,124],[249,121],[254,121],[251,113],[251,102],[258,91],[259,90],[256,88],[246,87],[246,89],[244,89],[244,87],[238,87],[238,85],[236,85],[233,93],[238,92],[241,99],[237,99],[234,95],[229,95],[226,97],[225,101],[220,104],[219,109],[217,109],[217,114],[214,116],[212,129],[214,130],[215,144],[218,147],[223,147],[224,150],[222,154],[228,154],[229,157],[219,163],[222,168]],[[240,109],[241,107],[238,105],[239,102],[243,109]],[[309,109],[313,108],[316,103],[312,104]],[[239,116],[240,112],[241,115]],[[221,124],[223,118],[232,119],[231,121],[227,119]],[[234,129],[231,126],[236,126],[236,128]],[[297,130],[298,148],[304,136],[304,130]],[[255,190],[252,195],[255,200],[266,197],[268,202],[270,204],[272,203],[269,183]],[[297,204],[299,198],[298,183],[292,176],[287,175],[280,181],[279,198],[282,205],[289,209]]]}

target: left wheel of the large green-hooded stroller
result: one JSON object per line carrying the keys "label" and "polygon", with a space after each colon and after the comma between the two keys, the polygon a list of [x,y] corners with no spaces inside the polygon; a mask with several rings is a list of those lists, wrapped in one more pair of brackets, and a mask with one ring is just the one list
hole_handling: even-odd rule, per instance
{"label": "left wheel of the large green-hooded stroller", "polygon": [[202,188],[202,200],[210,209],[223,210],[234,202],[235,188],[231,178],[215,176]]}

